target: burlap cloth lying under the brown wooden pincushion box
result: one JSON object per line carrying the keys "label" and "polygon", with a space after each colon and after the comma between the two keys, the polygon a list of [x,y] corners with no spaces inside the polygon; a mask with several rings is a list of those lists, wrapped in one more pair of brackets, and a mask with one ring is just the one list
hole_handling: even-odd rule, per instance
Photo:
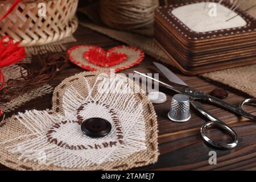
{"label": "burlap cloth lying under the brown wooden pincushion box", "polygon": [[[250,6],[253,6],[255,3],[256,2],[254,0],[253,1],[250,0],[243,3],[241,7],[243,10],[245,10]],[[238,4],[239,3],[237,3],[237,5]],[[94,17],[91,19],[93,20],[97,19],[98,17],[97,9],[92,9],[92,7],[90,7],[89,12],[87,11],[88,9],[89,9],[88,7],[82,8],[82,9],[79,9],[79,12],[86,16],[89,13],[90,17]],[[254,17],[256,17],[255,10],[250,10],[249,13]],[[140,31],[140,34],[135,34],[134,32],[114,30],[112,28],[106,27],[99,20],[96,23],[94,23],[92,20],[86,18],[86,16],[80,19],[81,26],[100,32],[101,34],[107,35],[110,38],[113,38],[115,40],[124,42],[130,46],[144,49],[145,53],[147,53],[152,57],[155,57],[155,59],[162,61],[163,63],[166,63],[166,64],[172,64],[170,59],[168,59],[167,55],[162,51],[162,49],[160,49],[156,45],[156,43],[154,42],[154,38],[152,38],[151,36],[143,36],[142,35],[143,31]],[[230,76],[229,75],[230,73],[232,73],[233,75]],[[226,75],[229,75],[229,76],[226,76]],[[200,77],[221,82],[222,84],[241,90],[242,92],[245,92],[250,96],[256,97],[256,79],[253,79],[255,78],[255,75],[256,75],[256,65],[250,65],[249,67],[233,68],[233,69],[222,70],[218,72],[207,73],[204,75],[200,75]],[[245,79],[247,80],[245,81]]]}

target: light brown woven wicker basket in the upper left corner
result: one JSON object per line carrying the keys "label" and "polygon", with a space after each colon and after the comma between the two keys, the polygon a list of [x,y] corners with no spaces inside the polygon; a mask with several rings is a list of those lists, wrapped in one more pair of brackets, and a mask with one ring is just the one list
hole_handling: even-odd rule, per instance
{"label": "light brown woven wicker basket in the upper left corner", "polygon": [[[0,1],[0,17],[11,7]],[[38,3],[46,4],[46,17],[39,17]],[[0,22],[0,36],[10,35],[20,46],[40,46],[56,42],[76,31],[75,16],[79,0],[22,1]]]}

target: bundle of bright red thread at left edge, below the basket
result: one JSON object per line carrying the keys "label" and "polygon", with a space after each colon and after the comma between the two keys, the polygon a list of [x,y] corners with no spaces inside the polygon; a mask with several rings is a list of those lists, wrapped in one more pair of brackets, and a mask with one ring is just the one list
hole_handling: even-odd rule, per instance
{"label": "bundle of bright red thread at left edge, below the basket", "polygon": [[1,68],[18,63],[26,56],[24,47],[18,47],[19,42],[14,43],[10,36],[3,36],[0,40],[0,90],[5,84],[5,78]]}

